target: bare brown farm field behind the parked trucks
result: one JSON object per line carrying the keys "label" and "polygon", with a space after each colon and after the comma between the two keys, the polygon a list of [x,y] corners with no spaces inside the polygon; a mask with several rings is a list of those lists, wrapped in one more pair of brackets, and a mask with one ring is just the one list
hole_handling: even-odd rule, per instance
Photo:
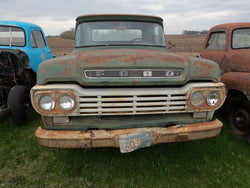
{"label": "bare brown farm field behind the parked trucks", "polygon": [[[197,56],[200,52],[206,35],[166,35],[166,46],[173,47],[170,52],[180,52],[186,55]],[[50,49],[56,56],[69,54],[74,48],[74,41],[59,37],[47,38]]]}

